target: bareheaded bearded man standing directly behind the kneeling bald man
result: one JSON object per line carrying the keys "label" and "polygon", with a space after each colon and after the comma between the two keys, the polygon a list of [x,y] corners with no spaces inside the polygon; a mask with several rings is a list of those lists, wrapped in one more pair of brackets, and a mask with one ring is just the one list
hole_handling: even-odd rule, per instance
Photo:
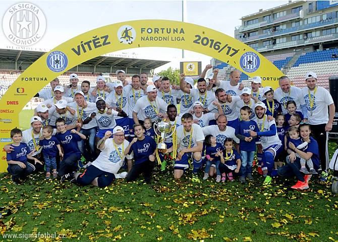
{"label": "bareheaded bearded man standing directly behind the kneeling bald man", "polygon": [[[239,124],[239,109],[237,108],[236,103],[240,101],[241,98],[239,96],[231,97],[231,94],[227,94],[222,88],[215,91],[215,96],[217,101],[213,101],[205,111],[226,115],[228,120],[227,125],[236,129]],[[222,112],[219,112],[219,106]]]}

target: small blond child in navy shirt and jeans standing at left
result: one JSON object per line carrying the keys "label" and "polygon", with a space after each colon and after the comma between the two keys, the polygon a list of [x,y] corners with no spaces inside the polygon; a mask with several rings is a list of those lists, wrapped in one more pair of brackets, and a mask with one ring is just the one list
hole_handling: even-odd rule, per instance
{"label": "small blond child in navy shirt and jeans standing at left", "polygon": [[60,155],[60,159],[64,156],[60,141],[52,136],[53,128],[50,125],[46,125],[42,128],[42,136],[44,139],[39,141],[39,146],[42,146],[42,154],[46,169],[46,179],[50,179],[50,168],[53,169],[53,178],[58,177],[57,172],[57,153]]}

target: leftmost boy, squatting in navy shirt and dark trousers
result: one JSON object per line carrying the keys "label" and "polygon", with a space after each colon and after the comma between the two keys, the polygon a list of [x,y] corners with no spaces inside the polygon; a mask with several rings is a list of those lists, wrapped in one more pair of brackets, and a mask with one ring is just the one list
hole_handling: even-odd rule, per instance
{"label": "leftmost boy, squatting in navy shirt and dark trousers", "polygon": [[26,179],[35,170],[35,167],[27,162],[27,158],[33,159],[35,163],[41,164],[41,162],[28,153],[29,148],[26,143],[21,143],[22,131],[20,129],[12,129],[11,138],[13,140],[11,146],[14,150],[7,153],[7,171],[12,174],[12,181],[15,184],[20,184],[20,179]]}

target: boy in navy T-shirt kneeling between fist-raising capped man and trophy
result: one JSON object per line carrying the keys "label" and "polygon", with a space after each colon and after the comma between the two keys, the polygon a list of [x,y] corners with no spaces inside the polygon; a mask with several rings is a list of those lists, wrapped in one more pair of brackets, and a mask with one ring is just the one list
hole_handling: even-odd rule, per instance
{"label": "boy in navy T-shirt kneeling between fist-raising capped man and trophy", "polygon": [[150,183],[152,169],[155,161],[156,143],[150,136],[144,135],[144,127],[141,124],[134,125],[135,135],[124,154],[134,154],[134,165],[132,160],[128,159],[127,181],[131,182],[136,180],[141,173],[144,175],[144,181]]}

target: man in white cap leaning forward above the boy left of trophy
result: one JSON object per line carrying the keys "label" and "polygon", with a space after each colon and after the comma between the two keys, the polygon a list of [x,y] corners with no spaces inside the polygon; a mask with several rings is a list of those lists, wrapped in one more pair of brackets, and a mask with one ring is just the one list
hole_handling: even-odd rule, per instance
{"label": "man in white cap leaning forward above the boy left of trophy", "polygon": [[150,118],[151,122],[161,120],[165,117],[167,104],[157,97],[157,89],[155,86],[147,87],[147,95],[137,100],[133,109],[133,119],[136,124],[144,121],[145,118]]}

